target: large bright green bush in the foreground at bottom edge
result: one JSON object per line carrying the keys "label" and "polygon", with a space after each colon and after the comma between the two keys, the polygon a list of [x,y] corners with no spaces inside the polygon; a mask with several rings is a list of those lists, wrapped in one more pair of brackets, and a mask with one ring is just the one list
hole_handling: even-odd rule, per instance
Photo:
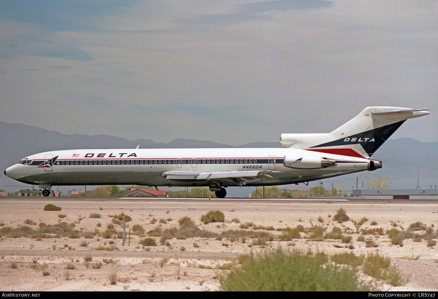
{"label": "large bright green bush in the foreground at bottom edge", "polygon": [[[355,271],[325,264],[327,255],[302,255],[283,250],[248,256],[241,268],[220,276],[222,291],[370,291]],[[324,267],[321,267],[325,264]]]}

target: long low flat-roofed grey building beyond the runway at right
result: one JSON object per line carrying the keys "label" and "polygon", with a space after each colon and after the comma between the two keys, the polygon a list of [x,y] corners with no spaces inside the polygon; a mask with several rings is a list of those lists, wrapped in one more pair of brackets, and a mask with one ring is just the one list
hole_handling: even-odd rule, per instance
{"label": "long low flat-roofed grey building beyond the runway at right", "polygon": [[353,190],[354,197],[384,200],[438,200],[438,189],[356,189]]}

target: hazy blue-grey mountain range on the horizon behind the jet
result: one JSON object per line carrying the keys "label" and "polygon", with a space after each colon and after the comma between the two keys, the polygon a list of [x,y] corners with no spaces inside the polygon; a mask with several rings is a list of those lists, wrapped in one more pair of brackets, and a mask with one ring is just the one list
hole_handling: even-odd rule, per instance
{"label": "hazy blue-grey mountain range on the horizon behind the jet", "polygon": [[[140,145],[140,148],[281,147],[279,142],[256,142],[230,146],[195,139],[175,139],[170,143],[156,143],[150,139],[128,140],[109,135],[66,135],[36,126],[0,122],[0,188],[5,189],[2,186],[6,186],[7,191],[14,191],[18,190],[18,187],[14,188],[13,186],[25,186],[25,184],[20,184],[6,177],[3,171],[23,157],[34,153],[62,149],[134,149],[137,145]],[[343,184],[344,188],[351,188],[354,183],[354,188],[356,188],[356,177],[359,177],[359,181],[371,181],[374,175],[379,175],[393,181],[392,188],[415,188],[417,177],[420,178],[422,188],[430,188],[429,185],[438,184],[437,153],[438,142],[420,142],[410,138],[389,139],[373,156],[373,158],[383,161],[382,169],[326,179],[323,184],[326,185],[326,188],[328,185],[331,188],[332,183],[335,188],[339,184]],[[403,181],[409,181],[407,183],[409,185],[403,184]],[[414,185],[412,185],[413,181],[415,181]]]}

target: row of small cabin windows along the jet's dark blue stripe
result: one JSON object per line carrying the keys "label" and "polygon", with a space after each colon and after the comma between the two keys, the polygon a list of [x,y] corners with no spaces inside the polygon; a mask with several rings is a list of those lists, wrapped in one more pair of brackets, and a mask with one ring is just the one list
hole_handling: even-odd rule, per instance
{"label": "row of small cabin windows along the jet's dark blue stripe", "polygon": [[[144,162],[143,162],[144,161]],[[149,162],[148,162],[149,161]],[[65,162],[65,163],[64,163]],[[257,163],[257,160],[126,160],[126,164],[176,164],[178,162],[178,164],[214,164],[214,163]],[[76,160],[76,161],[57,161],[56,162],[57,165],[106,165],[106,164],[125,164],[125,160]]]}

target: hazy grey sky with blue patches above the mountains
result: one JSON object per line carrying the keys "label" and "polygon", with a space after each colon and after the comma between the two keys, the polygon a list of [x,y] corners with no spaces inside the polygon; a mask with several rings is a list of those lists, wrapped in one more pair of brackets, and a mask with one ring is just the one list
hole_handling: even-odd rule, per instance
{"label": "hazy grey sky with blue patches above the mountains", "polygon": [[0,120],[240,145],[330,132],[366,106],[432,108],[438,2],[0,0]]}

